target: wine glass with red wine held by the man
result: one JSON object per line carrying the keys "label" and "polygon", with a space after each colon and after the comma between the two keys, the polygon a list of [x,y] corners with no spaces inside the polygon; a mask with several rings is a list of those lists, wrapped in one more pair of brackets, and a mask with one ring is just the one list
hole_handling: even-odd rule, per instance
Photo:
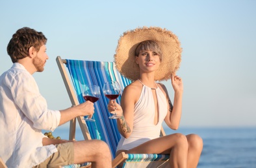
{"label": "wine glass with red wine held by the man", "polygon": [[[86,101],[91,101],[92,103],[99,100],[99,95],[101,92],[99,91],[99,86],[97,85],[84,85],[83,89],[83,98]],[[92,118],[89,118],[88,116],[84,116],[85,121],[95,121]]]}

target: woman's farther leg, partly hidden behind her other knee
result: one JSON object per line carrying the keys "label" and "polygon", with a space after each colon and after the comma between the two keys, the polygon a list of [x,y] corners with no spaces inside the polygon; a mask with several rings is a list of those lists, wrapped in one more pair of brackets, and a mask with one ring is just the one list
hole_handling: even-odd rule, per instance
{"label": "woman's farther leg, partly hidden behind her other knee", "polygon": [[203,140],[196,134],[188,134],[186,139],[188,140],[188,167],[196,168],[203,150]]}

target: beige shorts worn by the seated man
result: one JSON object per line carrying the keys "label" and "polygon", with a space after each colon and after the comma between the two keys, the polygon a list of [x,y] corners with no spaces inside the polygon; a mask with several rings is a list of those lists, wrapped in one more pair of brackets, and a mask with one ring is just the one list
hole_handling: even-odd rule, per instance
{"label": "beige shorts worn by the seated man", "polygon": [[73,142],[60,143],[55,145],[58,152],[53,153],[49,158],[33,168],[53,168],[61,165],[70,165],[74,163]]}

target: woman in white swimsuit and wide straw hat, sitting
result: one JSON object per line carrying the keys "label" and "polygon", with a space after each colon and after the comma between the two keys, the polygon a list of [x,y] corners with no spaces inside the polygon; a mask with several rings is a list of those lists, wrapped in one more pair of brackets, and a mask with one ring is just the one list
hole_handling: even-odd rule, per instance
{"label": "woman in white swimsuit and wide straw hat, sitting", "polygon": [[[177,37],[158,27],[125,32],[116,48],[116,68],[133,83],[125,87],[121,106],[110,101],[108,109],[117,114],[122,138],[116,154],[170,154],[171,167],[197,167],[203,141],[196,134],[179,133],[160,137],[162,121],[178,129],[181,120],[183,82],[175,71],[181,62]],[[171,79],[173,105],[162,81]]]}

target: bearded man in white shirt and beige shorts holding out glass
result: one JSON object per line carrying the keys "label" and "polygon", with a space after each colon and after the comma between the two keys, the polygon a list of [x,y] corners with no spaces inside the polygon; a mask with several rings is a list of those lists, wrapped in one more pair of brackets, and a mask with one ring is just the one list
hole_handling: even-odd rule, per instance
{"label": "bearded man in white shirt and beige shorts holding out glass", "polygon": [[44,71],[48,56],[42,32],[24,27],[7,46],[12,67],[0,76],[0,157],[8,167],[58,167],[92,162],[111,167],[107,143],[100,140],[51,140],[42,129],[54,131],[77,116],[92,116],[90,101],[65,110],[49,110],[32,74]]}

